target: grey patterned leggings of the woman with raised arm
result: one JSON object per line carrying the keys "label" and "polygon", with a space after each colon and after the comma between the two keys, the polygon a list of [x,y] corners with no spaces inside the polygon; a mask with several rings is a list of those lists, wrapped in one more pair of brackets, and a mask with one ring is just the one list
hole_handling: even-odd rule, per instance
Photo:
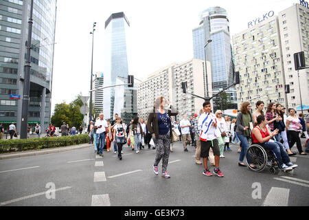
{"label": "grey patterned leggings of the woman with raised arm", "polygon": [[155,142],[157,153],[154,166],[158,166],[162,159],[162,173],[168,168],[168,157],[170,157],[170,134],[159,135],[159,138],[152,137]]}

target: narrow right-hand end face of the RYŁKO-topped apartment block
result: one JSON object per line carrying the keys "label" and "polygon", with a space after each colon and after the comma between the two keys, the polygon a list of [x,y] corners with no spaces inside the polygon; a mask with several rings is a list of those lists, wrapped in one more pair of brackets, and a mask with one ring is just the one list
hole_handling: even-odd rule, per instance
{"label": "narrow right-hand end face of the RY\u0141KO-topped apartment block", "polygon": [[[278,14],[280,38],[282,40],[282,58],[286,85],[290,85],[288,107],[309,105],[309,69],[295,70],[294,54],[304,51],[306,65],[309,65],[309,9],[295,4]],[[299,94],[301,90],[301,100]]]}

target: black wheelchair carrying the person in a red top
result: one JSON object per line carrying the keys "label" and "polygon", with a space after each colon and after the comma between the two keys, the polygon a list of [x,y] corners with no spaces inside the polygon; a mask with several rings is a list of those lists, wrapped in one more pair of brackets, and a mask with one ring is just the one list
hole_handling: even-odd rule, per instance
{"label": "black wheelchair carrying the person in a red top", "polygon": [[[248,156],[251,159],[251,164],[254,164],[254,167],[249,166]],[[249,170],[255,172],[262,172],[264,168],[269,167],[269,173],[278,174],[279,173],[279,162],[273,151],[270,151],[262,146],[262,144],[253,143],[246,152],[246,162],[248,164]],[[289,172],[286,170],[284,172]]]}

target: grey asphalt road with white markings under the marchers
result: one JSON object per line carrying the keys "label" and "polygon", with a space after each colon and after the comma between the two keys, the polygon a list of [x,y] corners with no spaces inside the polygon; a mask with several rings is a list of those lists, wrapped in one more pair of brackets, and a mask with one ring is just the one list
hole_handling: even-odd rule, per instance
{"label": "grey asphalt road with white markings under the marchers", "polygon": [[203,175],[195,148],[188,148],[174,144],[170,179],[152,172],[152,148],[136,154],[124,147],[122,161],[113,151],[97,158],[92,147],[5,159],[0,206],[309,206],[309,156],[293,157],[299,165],[293,173],[254,173],[238,166],[238,146],[231,144],[220,159],[220,178]]}

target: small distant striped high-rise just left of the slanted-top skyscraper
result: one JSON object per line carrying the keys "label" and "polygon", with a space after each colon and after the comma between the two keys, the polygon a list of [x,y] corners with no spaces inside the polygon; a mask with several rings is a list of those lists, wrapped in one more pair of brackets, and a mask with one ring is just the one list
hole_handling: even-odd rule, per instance
{"label": "small distant striped high-rise just left of the slanted-top skyscraper", "polygon": [[[103,87],[104,74],[101,72],[97,72],[95,74],[95,79],[93,80],[92,84],[93,89]],[[103,112],[103,96],[104,96],[104,89],[93,91],[92,102],[94,103],[95,116],[97,116],[98,113]]]}

